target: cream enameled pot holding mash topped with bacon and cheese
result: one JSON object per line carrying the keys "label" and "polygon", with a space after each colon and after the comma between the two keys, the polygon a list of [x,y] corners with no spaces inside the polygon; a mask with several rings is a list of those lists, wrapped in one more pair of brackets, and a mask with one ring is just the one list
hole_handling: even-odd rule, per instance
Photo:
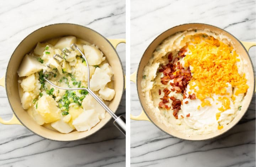
{"label": "cream enameled pot holding mash topped with bacon and cheese", "polygon": [[[234,47],[236,49],[236,52],[248,63],[247,64],[247,72],[249,74],[249,87],[247,91],[247,95],[244,99],[245,103],[241,108],[241,111],[238,112],[236,117],[234,118],[233,121],[231,121],[228,125],[226,125],[223,129],[216,131],[215,133],[211,134],[204,134],[204,135],[194,135],[194,136],[189,136],[186,135],[185,133],[182,133],[181,131],[175,130],[174,128],[168,128],[166,125],[162,124],[154,115],[153,112],[151,112],[150,108],[148,105],[145,103],[145,98],[142,96],[142,88],[141,88],[141,81],[142,81],[142,73],[145,65],[148,63],[150,57],[152,56],[154,50],[156,47],[164,41],[165,38],[171,36],[172,34],[175,34],[177,32],[185,31],[187,29],[209,29],[212,32],[216,32],[218,34],[224,34],[225,36],[229,37],[233,43]],[[139,67],[138,70],[135,71],[132,75],[130,80],[135,82],[137,85],[137,92],[139,95],[139,101],[140,104],[142,105],[143,111],[140,113],[138,116],[133,116],[130,115],[131,119],[134,120],[148,120],[152,122],[155,126],[157,126],[160,130],[164,131],[165,133],[175,136],[180,139],[185,139],[185,140],[207,140],[207,139],[212,139],[215,138],[219,135],[222,135],[229,129],[231,129],[235,124],[239,122],[239,120],[242,118],[242,116],[245,114],[247,111],[247,108],[249,107],[249,104],[251,102],[251,99],[254,94],[254,89],[255,89],[255,73],[254,73],[254,68],[252,65],[252,61],[250,59],[250,56],[248,54],[248,50],[250,47],[255,46],[255,42],[241,42],[239,41],[236,37],[234,37],[232,34],[229,32],[226,32],[224,29],[211,26],[211,25],[206,25],[202,23],[188,23],[188,24],[183,24],[179,25],[176,27],[172,27],[165,32],[161,33],[158,37],[154,39],[153,42],[148,46],[148,48],[145,50],[142,58],[140,59]]]}

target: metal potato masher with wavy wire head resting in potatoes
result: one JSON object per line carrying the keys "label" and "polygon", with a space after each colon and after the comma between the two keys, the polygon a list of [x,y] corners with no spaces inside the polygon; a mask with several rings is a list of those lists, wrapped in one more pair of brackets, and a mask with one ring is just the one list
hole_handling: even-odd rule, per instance
{"label": "metal potato masher with wavy wire head resting in potatoes", "polygon": [[[47,77],[44,77],[44,79],[49,82],[50,85],[54,86],[54,87],[57,87],[59,89],[64,89],[64,90],[86,90],[87,92],[89,92],[91,94],[92,97],[94,97],[94,99],[101,104],[101,106],[114,118],[114,122],[113,124],[124,134],[126,135],[126,123],[125,123],[125,119],[120,115],[119,117],[113,113],[113,111],[111,111],[110,108],[108,108],[108,106],[103,102],[101,101],[101,99],[90,89],[90,69],[89,69],[89,64],[88,64],[88,61],[85,57],[85,55],[82,53],[82,51],[76,46],[76,44],[72,44],[70,46],[70,48],[72,50],[75,50],[77,49],[81,55],[82,55],[82,58],[85,59],[85,62],[86,62],[86,65],[87,65],[87,72],[88,72],[88,80],[87,80],[87,84],[88,84],[88,87],[87,88],[65,88],[65,87],[60,87],[60,86],[57,86],[55,84],[53,84],[52,82],[50,82]],[[68,56],[68,54],[66,53],[70,53],[70,51],[66,48],[64,48],[62,50],[62,53],[65,55],[65,56]],[[61,55],[58,55],[58,54],[55,54],[53,56],[53,58],[58,61],[59,63],[63,60],[63,57]],[[50,67],[50,64],[47,64],[47,67],[48,68],[51,68]]]}

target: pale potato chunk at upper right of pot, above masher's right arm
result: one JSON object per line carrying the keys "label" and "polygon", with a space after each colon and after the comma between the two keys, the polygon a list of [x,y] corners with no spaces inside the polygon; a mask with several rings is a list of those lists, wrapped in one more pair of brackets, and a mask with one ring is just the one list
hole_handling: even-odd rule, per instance
{"label": "pale potato chunk at upper right of pot, above masher's right arm", "polygon": [[106,58],[103,57],[103,53],[95,45],[84,45],[84,55],[89,65],[99,65]]}

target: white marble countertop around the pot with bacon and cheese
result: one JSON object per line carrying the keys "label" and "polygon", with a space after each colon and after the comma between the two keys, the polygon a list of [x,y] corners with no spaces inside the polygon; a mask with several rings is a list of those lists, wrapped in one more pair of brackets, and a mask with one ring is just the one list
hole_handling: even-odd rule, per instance
{"label": "white marble countertop around the pot with bacon and cheese", "polygon": [[[241,41],[255,41],[255,0],[131,1],[131,72],[148,45],[166,29],[183,23],[208,23]],[[249,52],[255,68],[255,47]],[[142,108],[131,85],[131,112]],[[208,141],[184,141],[166,135],[147,121],[131,121],[132,167],[255,166],[255,97],[242,120],[228,133]]]}

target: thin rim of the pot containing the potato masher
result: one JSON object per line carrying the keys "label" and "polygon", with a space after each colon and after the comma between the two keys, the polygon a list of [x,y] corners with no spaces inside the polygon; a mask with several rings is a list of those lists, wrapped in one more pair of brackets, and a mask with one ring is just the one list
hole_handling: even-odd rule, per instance
{"label": "thin rim of the pot containing the potato masher", "polygon": [[[12,108],[11,103],[10,103],[10,100],[9,100],[9,96],[8,96],[8,93],[7,93],[7,87],[6,87],[6,84],[7,84],[7,83],[6,83],[7,69],[8,69],[8,67],[9,67],[10,60],[11,60],[11,58],[12,58],[14,52],[16,51],[16,49],[20,46],[20,44],[21,44],[28,36],[30,36],[30,35],[33,34],[34,32],[38,31],[39,29],[42,29],[42,28],[45,28],[45,27],[48,27],[48,26],[53,26],[53,25],[75,25],[75,26],[84,27],[84,28],[90,29],[91,31],[96,32],[96,33],[99,34],[103,39],[105,39],[105,41],[107,41],[108,44],[110,44],[110,46],[113,48],[113,50],[114,50],[114,52],[116,53],[117,58],[118,58],[118,60],[119,60],[119,62],[120,62],[120,64],[121,64],[122,74],[123,74],[123,90],[122,90],[122,95],[123,95],[123,93],[124,93],[124,85],[125,85],[123,65],[122,65],[122,61],[121,61],[121,59],[120,59],[120,57],[119,57],[119,55],[118,55],[116,49],[113,47],[113,45],[111,44],[111,42],[108,41],[108,39],[107,39],[106,37],[104,37],[102,34],[98,33],[98,32],[95,31],[94,29],[91,29],[91,28],[86,27],[86,26],[82,26],[82,25],[78,25],[78,24],[74,24],[74,23],[53,23],[53,24],[49,24],[49,25],[40,27],[40,28],[34,30],[33,32],[31,32],[30,34],[28,34],[25,38],[22,39],[22,41],[17,45],[17,47],[16,47],[16,48],[14,49],[14,51],[12,52],[12,54],[11,54],[11,56],[10,56],[10,58],[9,58],[7,67],[6,67],[6,71],[5,71],[5,91],[6,91],[7,99],[8,99],[9,105],[10,105],[11,110],[12,110],[12,112],[14,113],[15,117],[18,119],[18,121],[19,121],[23,126],[25,126],[25,128],[27,128],[28,130],[30,130],[32,133],[34,133],[34,134],[36,134],[36,135],[38,135],[38,136],[40,136],[40,137],[42,137],[42,138],[44,138],[44,139],[48,139],[48,140],[52,140],[52,141],[63,141],[63,142],[65,142],[65,141],[77,141],[77,140],[82,140],[82,139],[88,138],[89,136],[91,136],[91,135],[95,134],[96,132],[98,132],[99,130],[101,130],[112,118],[110,118],[110,119],[105,123],[105,125],[103,125],[100,129],[96,130],[94,133],[92,133],[92,134],[90,134],[90,135],[88,135],[88,136],[86,136],[86,137],[84,137],[84,138],[75,139],[75,140],[54,140],[54,139],[49,139],[49,138],[47,138],[47,137],[45,137],[45,136],[42,136],[42,135],[37,134],[35,131],[31,130],[31,129],[28,128],[25,124],[23,124],[23,122],[20,120],[20,118],[17,117],[17,115],[16,115],[14,109]],[[119,100],[119,102],[118,102],[118,107],[119,107],[119,105],[120,105],[120,103],[121,103],[121,100],[122,100],[122,96],[121,96],[121,98],[120,98],[120,100]],[[117,107],[117,109],[118,109],[118,107]],[[116,111],[117,111],[117,109],[116,109]],[[113,111],[113,112],[116,113],[116,111]],[[40,126],[41,126],[41,125],[40,125]]]}

